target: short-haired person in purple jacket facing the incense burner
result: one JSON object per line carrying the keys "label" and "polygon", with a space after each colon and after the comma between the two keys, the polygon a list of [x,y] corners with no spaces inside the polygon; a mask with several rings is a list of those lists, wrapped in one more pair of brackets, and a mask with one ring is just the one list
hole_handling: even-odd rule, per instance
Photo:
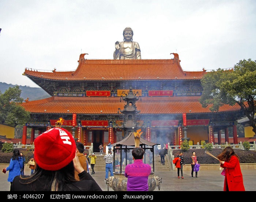
{"label": "short-haired person in purple jacket facing the incense burner", "polygon": [[133,163],[125,167],[124,176],[127,177],[127,191],[148,191],[148,176],[151,166],[143,163],[144,150],[136,147],[132,150]]}

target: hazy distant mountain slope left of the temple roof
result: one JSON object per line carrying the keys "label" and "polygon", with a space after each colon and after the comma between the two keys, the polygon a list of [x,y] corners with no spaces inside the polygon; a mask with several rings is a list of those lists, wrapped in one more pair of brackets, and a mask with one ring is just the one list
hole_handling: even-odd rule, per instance
{"label": "hazy distant mountain slope left of the temple roof", "polygon": [[[18,85],[0,82],[0,91],[3,94],[8,88],[12,88],[14,86]],[[29,101],[32,101],[50,97],[50,95],[47,92],[45,92],[42,88],[19,86],[19,89],[21,90],[20,97],[22,97],[24,100],[29,98]]]}

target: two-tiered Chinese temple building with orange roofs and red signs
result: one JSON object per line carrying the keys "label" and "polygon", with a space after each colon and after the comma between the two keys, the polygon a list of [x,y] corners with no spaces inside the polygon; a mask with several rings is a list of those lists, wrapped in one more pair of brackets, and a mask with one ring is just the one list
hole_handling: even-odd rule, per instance
{"label": "two-tiered Chinese temple building with orange roofs and red signs", "polygon": [[179,145],[185,138],[190,144],[221,144],[221,130],[229,141],[228,128],[233,127],[232,143],[236,144],[240,107],[224,105],[218,112],[211,112],[209,106],[203,108],[198,100],[202,95],[200,80],[207,72],[183,71],[178,54],[171,55],[170,59],[102,60],[81,54],[75,71],[25,69],[23,75],[51,97],[22,103],[34,120],[24,126],[23,140],[27,127],[32,128],[33,142],[35,130],[41,134],[61,117],[62,127],[84,145],[94,143],[97,149],[100,143],[118,142],[125,138],[122,98],[132,89],[139,98],[136,121],[146,140]]}

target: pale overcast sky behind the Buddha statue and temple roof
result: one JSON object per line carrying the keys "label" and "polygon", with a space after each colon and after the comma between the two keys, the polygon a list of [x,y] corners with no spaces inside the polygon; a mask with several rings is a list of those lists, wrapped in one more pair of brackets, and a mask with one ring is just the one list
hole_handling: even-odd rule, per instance
{"label": "pale overcast sky behind the Buddha statue and temple roof", "polygon": [[75,70],[113,59],[125,27],[142,59],[177,53],[185,71],[256,60],[255,0],[0,0],[0,82],[39,87],[25,68]]}

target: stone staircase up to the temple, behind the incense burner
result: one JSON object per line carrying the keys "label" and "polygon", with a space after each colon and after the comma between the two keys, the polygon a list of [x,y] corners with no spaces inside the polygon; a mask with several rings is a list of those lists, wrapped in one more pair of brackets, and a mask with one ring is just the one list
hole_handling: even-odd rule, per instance
{"label": "stone staircase up to the temple, behind the incense burner", "polygon": [[[99,153],[95,153],[95,155],[97,156],[96,164],[94,166],[95,173],[97,171],[105,171],[106,164],[103,158],[105,154],[103,154],[103,156],[100,156]],[[118,158],[120,160],[120,157],[118,155],[115,155],[115,158]],[[155,171],[170,171],[170,166],[167,161],[167,156],[165,156],[165,165],[161,165],[161,158],[158,155],[154,155],[154,161],[155,161]],[[148,159],[146,159],[146,163],[149,164]],[[151,167],[153,169],[153,166]],[[120,169],[120,166],[119,167],[117,166],[116,168]],[[124,171],[124,169],[125,169],[125,166],[122,166],[122,171]],[[115,171],[117,171],[117,169]]]}

